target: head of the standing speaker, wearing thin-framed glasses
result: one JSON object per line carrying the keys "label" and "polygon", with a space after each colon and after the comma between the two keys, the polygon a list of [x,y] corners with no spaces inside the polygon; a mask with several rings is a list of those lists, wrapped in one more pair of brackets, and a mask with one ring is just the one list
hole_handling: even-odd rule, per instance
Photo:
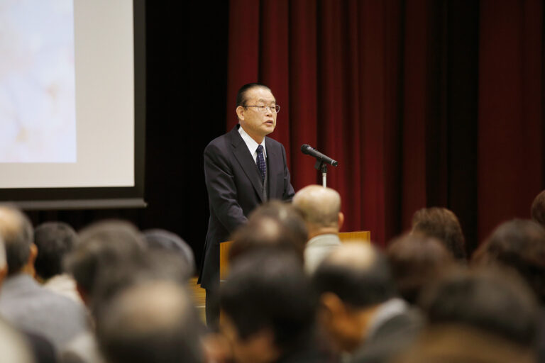
{"label": "head of the standing speaker, wearing thin-framed glasses", "polygon": [[[246,107],[238,106],[236,113],[242,128],[256,142],[260,143],[265,135],[272,133],[276,126],[277,113],[275,96],[264,87],[253,87],[246,92]],[[251,106],[251,107],[248,107]],[[269,106],[259,108],[254,106]]]}

